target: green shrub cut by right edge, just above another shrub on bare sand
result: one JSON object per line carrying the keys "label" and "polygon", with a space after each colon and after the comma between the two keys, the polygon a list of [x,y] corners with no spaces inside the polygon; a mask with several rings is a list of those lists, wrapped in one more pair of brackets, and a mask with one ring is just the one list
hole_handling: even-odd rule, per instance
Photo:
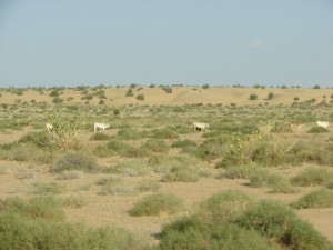
{"label": "green shrub cut by right edge, just above another shrub on bare sand", "polygon": [[333,171],[324,168],[310,168],[291,179],[295,186],[324,186],[333,179]]}

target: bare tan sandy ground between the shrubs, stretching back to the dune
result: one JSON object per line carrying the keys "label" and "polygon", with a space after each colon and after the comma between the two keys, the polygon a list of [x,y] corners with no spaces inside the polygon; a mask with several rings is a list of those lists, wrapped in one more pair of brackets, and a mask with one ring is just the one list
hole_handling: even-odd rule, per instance
{"label": "bare tan sandy ground between the shrubs, stretching back to the dune", "polygon": [[[129,90],[132,96],[128,96]],[[164,138],[163,142],[168,149],[161,152],[152,152],[157,157],[184,157],[185,164],[196,168],[200,172],[198,181],[161,181],[168,170],[152,170],[148,166],[151,152],[148,156],[124,156],[111,153],[110,156],[97,156],[98,164],[105,171],[82,171],[75,178],[61,178],[61,173],[52,172],[57,160],[67,150],[54,150],[49,160],[40,160],[31,156],[22,159],[16,156],[27,153],[24,149],[16,151],[0,151],[0,199],[8,197],[22,197],[28,199],[36,196],[37,183],[54,183],[62,188],[60,198],[77,197],[84,204],[65,207],[68,221],[83,221],[92,227],[115,224],[123,227],[148,240],[158,243],[155,236],[161,231],[163,224],[190,214],[203,200],[219,191],[231,189],[249,193],[253,199],[279,200],[286,206],[320,188],[316,184],[296,187],[296,192],[272,192],[269,186],[251,187],[246,178],[221,178],[225,168],[216,168],[216,164],[225,156],[214,156],[196,159],[193,154],[189,157],[181,148],[172,147],[176,141],[191,140],[198,146],[208,138],[213,140],[210,132],[220,131],[220,127],[226,124],[244,126],[246,123],[258,124],[261,120],[276,119],[289,123],[302,124],[296,131],[289,131],[285,137],[296,141],[317,143],[326,146],[332,142],[333,133],[333,89],[330,88],[276,88],[276,87],[171,87],[172,92],[163,88],[154,87],[100,87],[93,88],[29,88],[1,89],[0,92],[0,144],[18,143],[24,136],[31,132],[46,132],[44,123],[50,121],[50,113],[61,110],[65,113],[67,107],[77,107],[77,111],[85,117],[84,127],[78,131],[79,144],[77,151],[91,153],[98,147],[103,147],[108,140],[94,140],[93,122],[110,123],[104,133],[108,138],[118,138],[134,148],[142,148],[153,136],[141,138],[121,138],[123,128],[138,132],[151,133],[155,129],[178,128],[178,136]],[[54,101],[51,97],[52,90],[57,90],[61,101]],[[84,93],[83,91],[87,90]],[[100,91],[102,90],[102,91]],[[98,92],[100,91],[100,92]],[[269,98],[269,93],[273,93]],[[91,94],[91,97],[89,97]],[[138,96],[141,94],[141,98]],[[256,98],[251,100],[250,94]],[[82,99],[83,97],[83,99]],[[88,97],[88,98],[87,98]],[[143,97],[143,98],[142,98]],[[57,103],[56,103],[57,102]],[[301,103],[301,104],[300,104]],[[294,104],[294,106],[293,106]],[[297,106],[299,104],[299,106]],[[309,133],[315,128],[315,121],[329,121],[330,127],[324,133]],[[204,131],[192,129],[193,121],[210,123]],[[180,132],[184,131],[184,132]],[[230,134],[230,133],[229,133]],[[218,136],[216,136],[218,137]],[[283,136],[281,136],[283,137]],[[280,140],[281,141],[281,140]],[[31,148],[28,154],[34,154],[36,148]],[[22,151],[20,151],[22,150]],[[27,149],[26,149],[27,150]],[[72,150],[72,149],[70,149]],[[53,151],[52,151],[53,152]],[[331,151],[333,154],[333,151]],[[20,154],[21,156],[21,154]],[[189,159],[188,159],[189,158]],[[134,163],[133,163],[134,162]],[[172,161],[171,161],[172,162]],[[122,163],[130,167],[123,171],[110,171],[120,168]],[[170,162],[165,164],[172,164]],[[139,170],[135,171],[135,167]],[[143,166],[143,167],[142,167]],[[159,166],[162,167],[162,166]],[[164,166],[165,167],[165,166]],[[306,169],[326,169],[332,171],[333,164],[321,163],[315,160],[304,160],[297,163],[282,162],[265,168],[274,173],[291,179]],[[103,192],[103,187],[98,182],[105,178],[121,179],[128,189],[119,192]],[[134,187],[145,182],[158,183],[158,191],[135,191]],[[133,204],[143,197],[154,193],[173,193],[184,201],[185,209],[175,213],[161,213],[158,216],[133,217],[130,210]],[[296,214],[309,221],[314,228],[323,233],[333,243],[333,208],[307,208],[293,209]]]}

